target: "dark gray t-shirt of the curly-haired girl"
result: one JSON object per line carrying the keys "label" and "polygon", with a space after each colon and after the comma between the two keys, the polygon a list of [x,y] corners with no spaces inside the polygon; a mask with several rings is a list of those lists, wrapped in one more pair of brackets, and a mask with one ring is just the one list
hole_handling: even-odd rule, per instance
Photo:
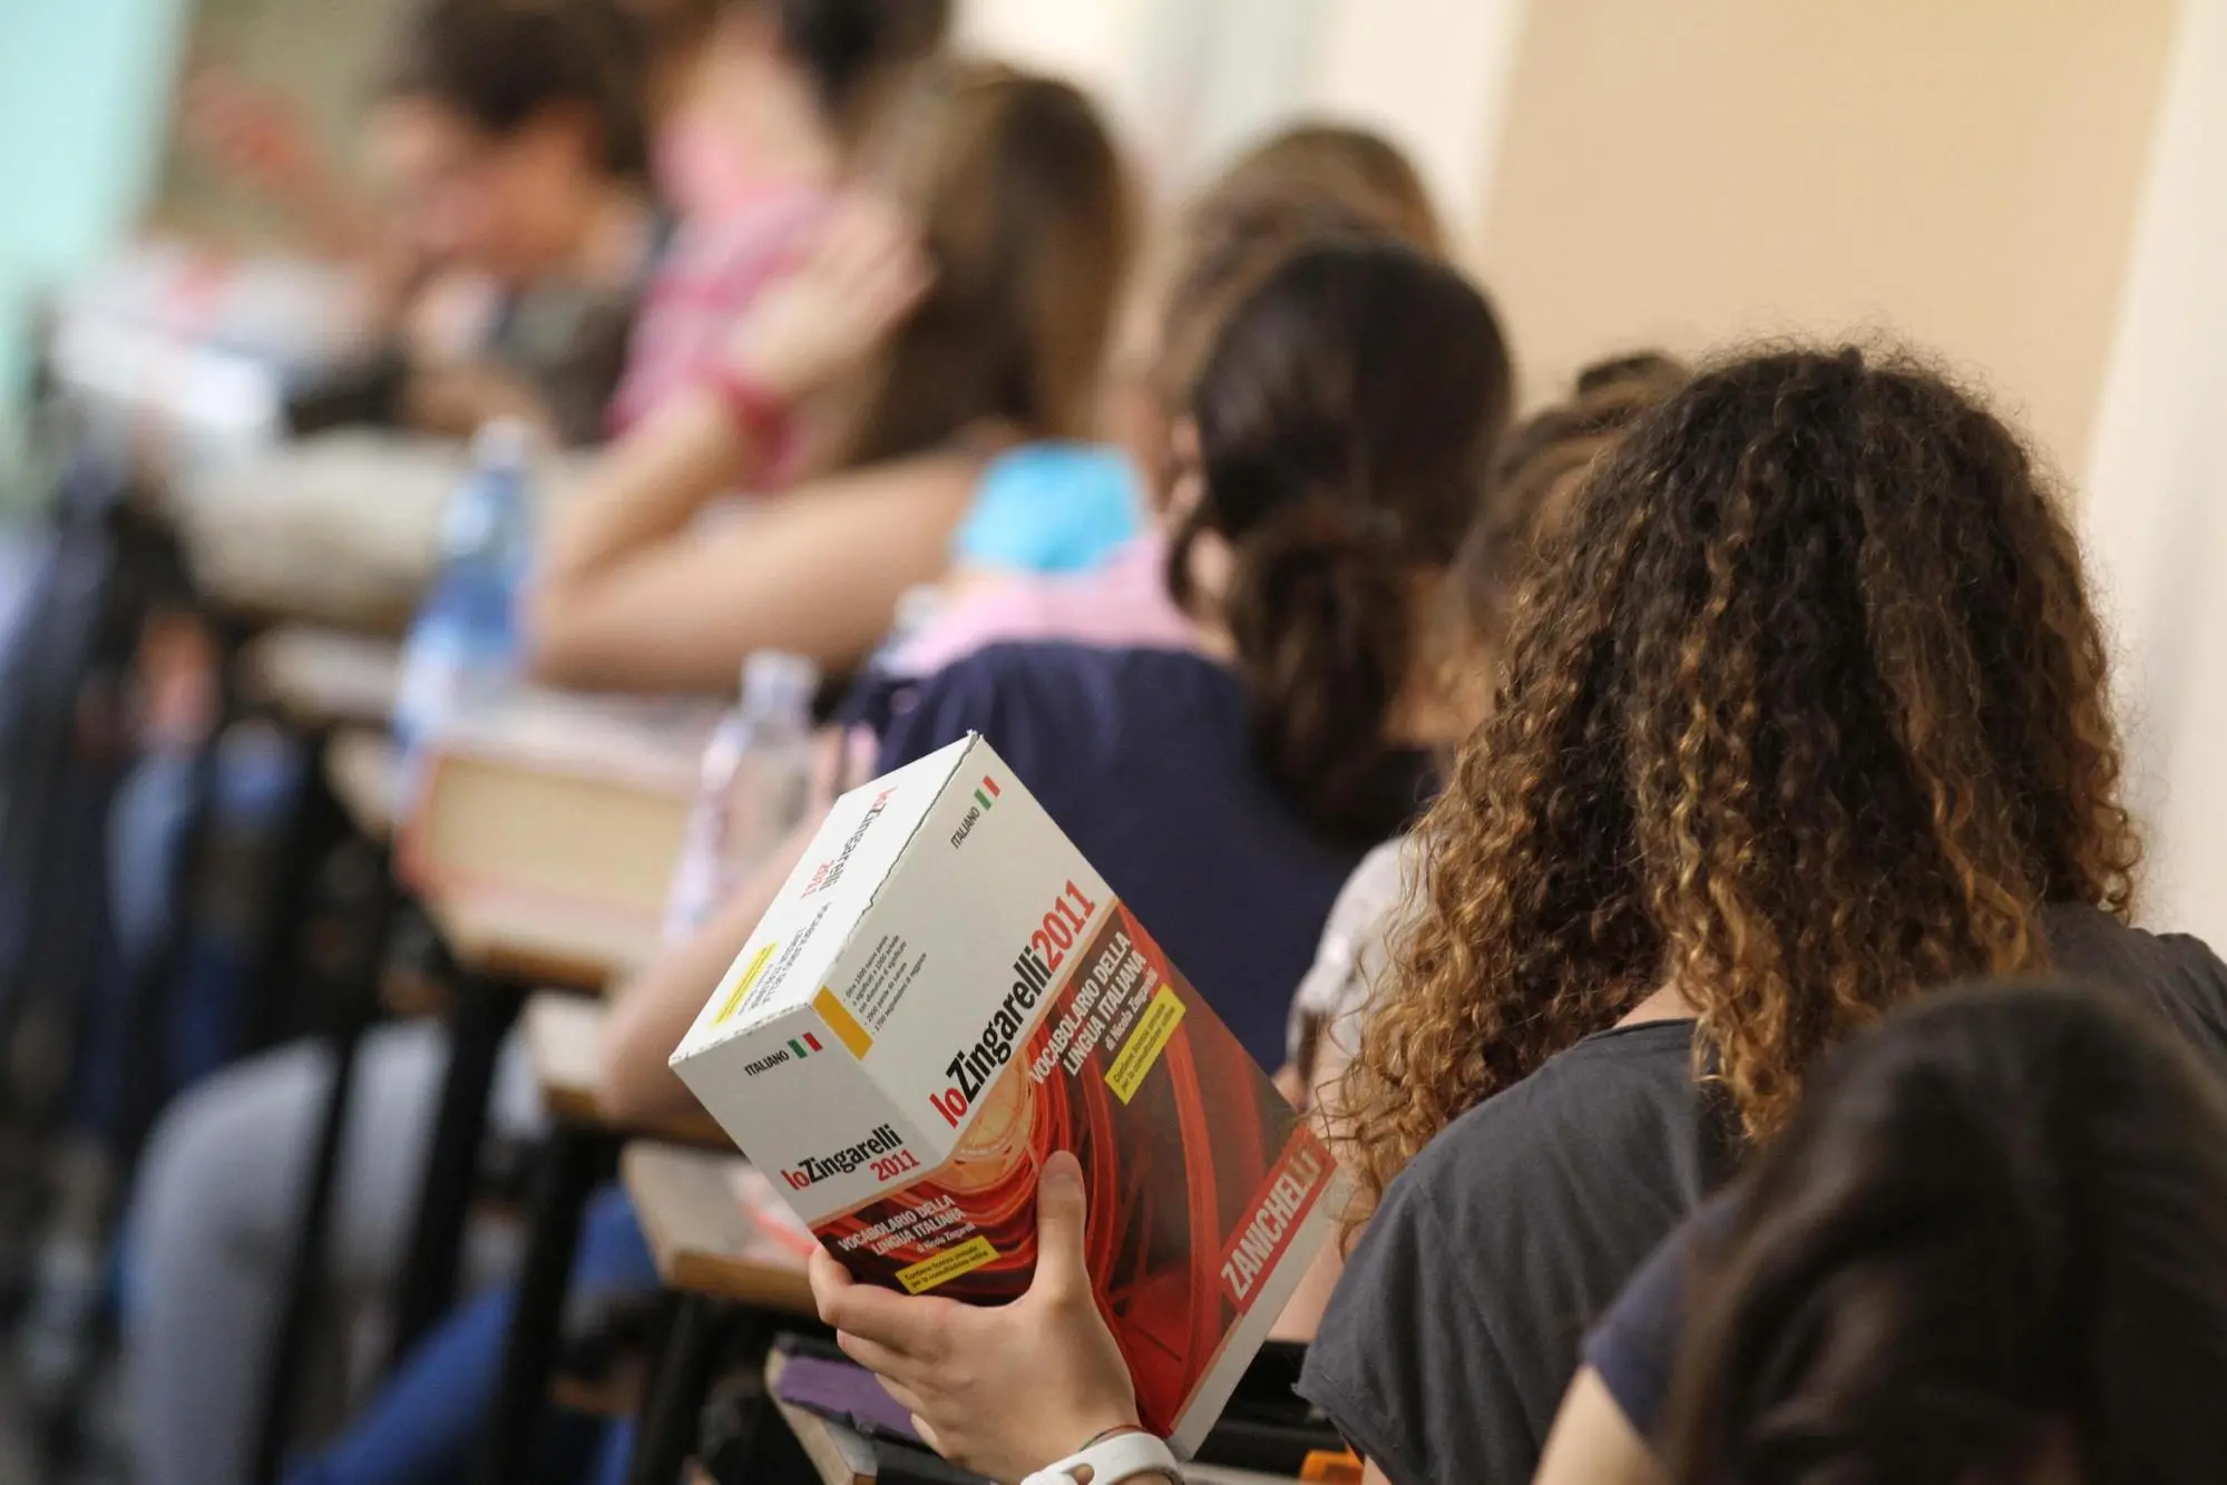
{"label": "dark gray t-shirt of the curly-haired girl", "polygon": [[[2227,964],[2198,940],[2049,908],[2060,973],[2151,997],[2227,1049]],[[1693,1022],[1586,1037],[1470,1109],[1370,1220],[1301,1394],[1394,1485],[1523,1485],[1579,1347],[1655,1247],[1735,1167],[1693,1080]]]}

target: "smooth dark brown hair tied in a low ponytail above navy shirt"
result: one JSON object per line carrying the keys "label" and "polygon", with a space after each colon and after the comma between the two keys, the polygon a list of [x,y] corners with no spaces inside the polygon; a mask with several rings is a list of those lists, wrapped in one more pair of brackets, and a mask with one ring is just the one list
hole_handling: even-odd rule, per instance
{"label": "smooth dark brown hair tied in a low ponytail above navy shirt", "polygon": [[1223,619],[1263,768],[1332,839],[1414,813],[1390,764],[1423,655],[1419,592],[1477,514],[1508,423],[1508,352],[1483,294],[1392,243],[1309,247],[1223,330],[1191,396],[1200,494],[1169,543],[1232,548]]}

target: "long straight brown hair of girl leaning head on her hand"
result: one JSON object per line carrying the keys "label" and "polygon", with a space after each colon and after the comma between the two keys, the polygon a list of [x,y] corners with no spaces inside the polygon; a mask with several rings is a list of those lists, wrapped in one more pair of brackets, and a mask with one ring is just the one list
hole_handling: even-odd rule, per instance
{"label": "long straight brown hair of girl leaning head on her hand", "polygon": [[1082,94],[1049,78],[946,62],[915,87],[869,174],[918,212],[935,285],[837,439],[840,463],[980,423],[1087,436],[1131,247],[1114,140]]}

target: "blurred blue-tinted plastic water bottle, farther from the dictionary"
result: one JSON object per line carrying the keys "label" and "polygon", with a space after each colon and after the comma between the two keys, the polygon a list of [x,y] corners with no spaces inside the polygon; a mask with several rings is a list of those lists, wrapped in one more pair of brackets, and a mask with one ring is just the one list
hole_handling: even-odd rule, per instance
{"label": "blurred blue-tinted plastic water bottle, farther from the dictionary", "polygon": [[517,677],[512,606],[532,550],[530,459],[532,434],[523,423],[488,423],[472,445],[472,476],[450,496],[441,570],[410,626],[394,695],[403,799],[416,788],[428,741],[457,708]]}

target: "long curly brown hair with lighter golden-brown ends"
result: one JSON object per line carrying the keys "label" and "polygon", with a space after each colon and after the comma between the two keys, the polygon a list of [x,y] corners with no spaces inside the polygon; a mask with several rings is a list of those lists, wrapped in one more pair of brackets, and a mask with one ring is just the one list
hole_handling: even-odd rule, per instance
{"label": "long curly brown hair with lighter golden-brown ends", "polygon": [[2125,917],[2105,641],[2033,459],[1906,356],[1770,350],[1639,421],[1517,599],[1343,1089],[1365,1200],[1664,986],[1750,1138],[1913,991]]}

